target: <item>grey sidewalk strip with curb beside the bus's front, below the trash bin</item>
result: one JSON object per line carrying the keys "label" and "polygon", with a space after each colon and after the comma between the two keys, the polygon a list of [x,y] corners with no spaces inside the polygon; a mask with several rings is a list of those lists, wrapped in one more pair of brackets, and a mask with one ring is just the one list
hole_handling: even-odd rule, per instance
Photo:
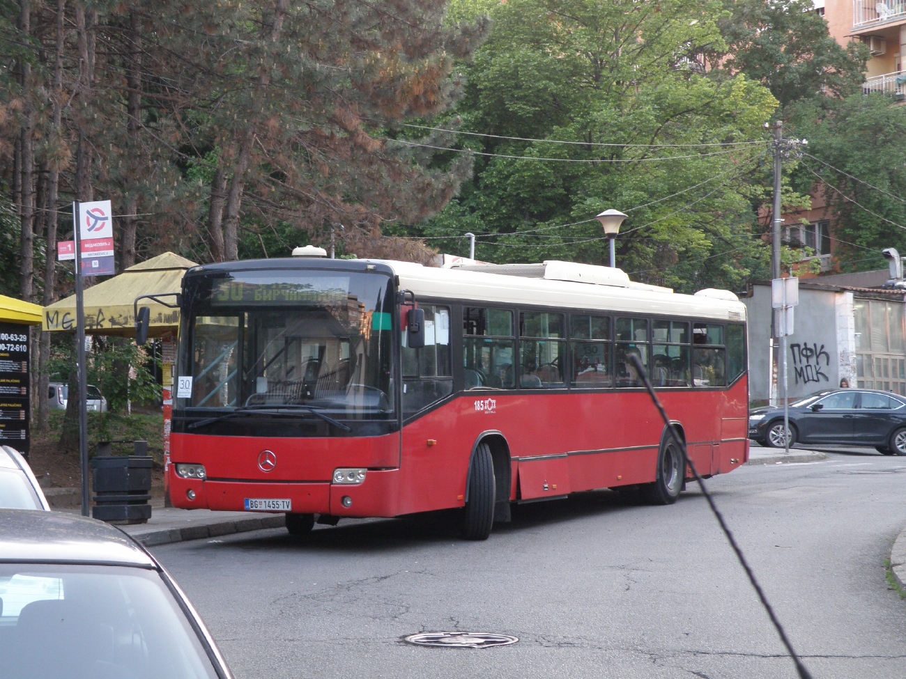
{"label": "grey sidewalk strip with curb beside the bus's front, below the trash bin", "polygon": [[[79,513],[79,510],[71,509],[56,511]],[[201,540],[232,533],[260,531],[263,528],[283,528],[284,525],[283,514],[154,507],[148,523],[119,525],[117,528],[129,533],[145,547],[155,547],[183,540]]]}

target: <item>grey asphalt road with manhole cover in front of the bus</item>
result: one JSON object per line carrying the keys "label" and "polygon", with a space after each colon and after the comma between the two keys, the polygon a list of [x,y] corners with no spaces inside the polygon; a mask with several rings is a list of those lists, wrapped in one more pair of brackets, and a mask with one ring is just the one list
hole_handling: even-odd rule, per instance
{"label": "grey asphalt road with manhole cover in front of the bus", "polygon": [[[815,679],[906,677],[906,601],[883,562],[906,526],[906,458],[835,450],[708,482]],[[617,493],[524,505],[487,542],[449,516],[155,548],[237,679],[795,677],[689,486],[671,507]],[[513,646],[422,648],[419,631]]]}

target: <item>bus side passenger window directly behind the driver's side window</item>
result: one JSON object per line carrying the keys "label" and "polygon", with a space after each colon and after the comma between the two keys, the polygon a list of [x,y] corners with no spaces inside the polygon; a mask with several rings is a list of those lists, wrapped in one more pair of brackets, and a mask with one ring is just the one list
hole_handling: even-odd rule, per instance
{"label": "bus side passenger window directly behind the driver's side window", "polygon": [[516,341],[513,312],[504,309],[463,309],[463,368],[466,389],[516,387],[513,369]]}

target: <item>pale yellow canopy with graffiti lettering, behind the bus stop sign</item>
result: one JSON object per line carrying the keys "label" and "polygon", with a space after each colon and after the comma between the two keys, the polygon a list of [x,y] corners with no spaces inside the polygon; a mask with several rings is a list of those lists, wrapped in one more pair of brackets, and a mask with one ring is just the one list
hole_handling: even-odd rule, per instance
{"label": "pale yellow canopy with graffiti lettering, behind the bus stop sign", "polygon": [[[181,292],[182,276],[187,269],[198,266],[176,253],[163,253],[147,262],[130,266],[84,292],[85,332],[94,335],[134,337],[136,297],[165,292]],[[168,330],[177,330],[179,310],[169,309],[152,300],[142,300],[139,306],[150,307],[151,337]],[[38,307],[40,309],[40,307]],[[43,309],[44,330],[75,330],[75,295],[57,301]]]}

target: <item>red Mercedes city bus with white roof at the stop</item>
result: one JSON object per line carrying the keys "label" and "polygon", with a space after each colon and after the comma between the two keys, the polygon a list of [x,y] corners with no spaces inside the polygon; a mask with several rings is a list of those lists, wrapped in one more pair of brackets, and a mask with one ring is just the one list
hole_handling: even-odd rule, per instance
{"label": "red Mercedes city bus with white roof at the stop", "polygon": [[575,263],[294,257],[183,282],[173,504],[341,517],[462,508],[487,538],[512,502],[639,486],[674,502],[687,464],[628,362],[638,354],[699,473],[748,457],[746,308]]}

